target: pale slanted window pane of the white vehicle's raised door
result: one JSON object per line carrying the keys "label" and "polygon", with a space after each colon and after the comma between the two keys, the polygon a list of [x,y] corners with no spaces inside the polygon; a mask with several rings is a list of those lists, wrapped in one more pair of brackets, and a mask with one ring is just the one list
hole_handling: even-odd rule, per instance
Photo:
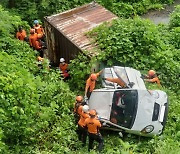
{"label": "pale slanted window pane of the white vehicle's raised door", "polygon": [[126,74],[126,70],[124,67],[114,66],[113,69],[118,78],[122,79],[126,84],[129,83],[129,80],[128,80],[128,77]]}

